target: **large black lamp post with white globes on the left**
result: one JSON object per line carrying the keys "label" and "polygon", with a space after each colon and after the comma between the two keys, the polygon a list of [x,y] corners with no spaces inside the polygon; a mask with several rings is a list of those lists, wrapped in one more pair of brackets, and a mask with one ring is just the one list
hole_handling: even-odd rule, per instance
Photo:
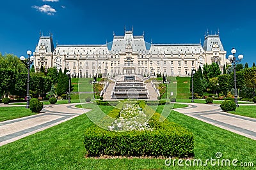
{"label": "large black lamp post with white globes on the left", "polygon": [[22,60],[25,64],[26,64],[26,67],[28,69],[28,89],[27,89],[27,104],[26,104],[26,108],[28,109],[29,108],[29,100],[30,100],[30,97],[29,97],[29,69],[30,69],[30,66],[31,64],[33,63],[33,60],[35,60],[35,57],[31,56],[31,51],[28,50],[27,54],[28,54],[28,59],[25,60],[25,57],[24,56],[21,56],[20,57],[20,60]]}

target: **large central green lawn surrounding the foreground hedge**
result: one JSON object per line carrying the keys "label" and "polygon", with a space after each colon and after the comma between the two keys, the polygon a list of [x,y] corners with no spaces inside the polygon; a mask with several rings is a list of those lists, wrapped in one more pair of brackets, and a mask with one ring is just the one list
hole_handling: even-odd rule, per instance
{"label": "large central green lawn surrounding the foreground hedge", "polygon": [[[84,106],[95,108],[93,104]],[[108,107],[100,106],[106,113],[111,110]],[[161,107],[157,110],[163,110]],[[215,159],[215,153],[221,152],[223,159],[237,159],[239,162],[256,164],[256,141],[176,111],[172,111],[168,120],[193,132],[196,159]],[[0,169],[234,169],[232,166],[166,167],[164,159],[85,159],[83,131],[90,125],[92,122],[83,114],[45,131],[1,146]]]}

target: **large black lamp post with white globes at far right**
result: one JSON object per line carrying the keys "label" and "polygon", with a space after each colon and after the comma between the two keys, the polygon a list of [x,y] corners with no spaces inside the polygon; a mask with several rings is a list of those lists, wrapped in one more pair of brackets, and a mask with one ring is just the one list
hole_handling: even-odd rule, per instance
{"label": "large black lamp post with white globes at far right", "polygon": [[235,83],[235,103],[237,108],[239,107],[238,102],[237,102],[237,88],[236,88],[236,63],[241,62],[241,60],[244,58],[244,56],[242,54],[238,55],[238,59],[236,59],[235,57],[235,53],[236,53],[236,49],[233,47],[231,50],[231,53],[228,55],[228,60],[230,60],[230,62],[233,64],[234,66],[234,83]]}

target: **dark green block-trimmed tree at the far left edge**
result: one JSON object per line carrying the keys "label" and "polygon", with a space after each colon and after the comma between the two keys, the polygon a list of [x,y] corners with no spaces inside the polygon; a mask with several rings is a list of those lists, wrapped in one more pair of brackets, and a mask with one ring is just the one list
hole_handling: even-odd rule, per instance
{"label": "dark green block-trimmed tree at the far left edge", "polygon": [[9,92],[15,91],[15,71],[13,69],[0,69],[0,91],[5,97],[8,97]]}

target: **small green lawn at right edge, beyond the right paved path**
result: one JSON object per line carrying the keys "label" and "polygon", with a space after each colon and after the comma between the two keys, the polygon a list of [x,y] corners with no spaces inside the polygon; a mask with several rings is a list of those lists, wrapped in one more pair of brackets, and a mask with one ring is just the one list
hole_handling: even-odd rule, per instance
{"label": "small green lawn at right edge, beyond the right paved path", "polygon": [[239,106],[236,111],[228,111],[228,113],[256,118],[256,106]]}

